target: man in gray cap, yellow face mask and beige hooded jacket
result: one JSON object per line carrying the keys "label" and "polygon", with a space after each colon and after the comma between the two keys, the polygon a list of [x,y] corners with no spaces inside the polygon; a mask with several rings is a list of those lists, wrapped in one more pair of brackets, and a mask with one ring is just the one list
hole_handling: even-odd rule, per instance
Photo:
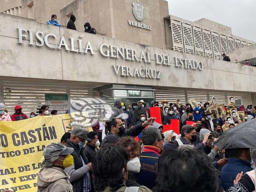
{"label": "man in gray cap, yellow face mask and beige hooded jacket", "polygon": [[43,168],[38,173],[37,186],[40,192],[72,192],[70,176],[64,169],[73,164],[70,155],[73,148],[61,143],[51,143],[43,150]]}

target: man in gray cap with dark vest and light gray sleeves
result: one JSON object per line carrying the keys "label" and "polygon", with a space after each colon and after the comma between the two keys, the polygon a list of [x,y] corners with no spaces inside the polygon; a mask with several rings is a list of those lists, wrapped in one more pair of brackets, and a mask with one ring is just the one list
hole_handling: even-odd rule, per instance
{"label": "man in gray cap with dark vest and light gray sleeves", "polygon": [[91,179],[89,171],[92,170],[92,163],[83,155],[81,149],[84,148],[88,131],[80,126],[74,126],[71,131],[70,140],[66,141],[66,147],[74,149],[72,156],[74,164],[65,169],[70,175],[70,183],[74,192],[89,192],[91,190]]}

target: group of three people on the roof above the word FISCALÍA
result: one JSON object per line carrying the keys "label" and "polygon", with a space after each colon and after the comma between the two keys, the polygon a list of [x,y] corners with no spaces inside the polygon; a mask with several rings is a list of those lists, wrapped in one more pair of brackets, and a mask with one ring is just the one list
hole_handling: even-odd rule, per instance
{"label": "group of three people on the roof above the word FISCAL\u00cdA", "polygon": [[[76,25],[74,24],[74,22],[76,22],[76,16],[74,15],[70,15],[70,19],[67,22],[67,29],[73,29],[73,30],[77,30],[76,29]],[[49,20],[48,22],[46,22],[48,25],[54,25],[57,27],[62,27],[61,24],[58,23],[57,21],[57,15],[53,14],[51,15],[51,20]],[[91,27],[91,24],[86,22],[84,24],[84,32],[85,33],[92,33],[92,34],[96,34],[96,29]]]}

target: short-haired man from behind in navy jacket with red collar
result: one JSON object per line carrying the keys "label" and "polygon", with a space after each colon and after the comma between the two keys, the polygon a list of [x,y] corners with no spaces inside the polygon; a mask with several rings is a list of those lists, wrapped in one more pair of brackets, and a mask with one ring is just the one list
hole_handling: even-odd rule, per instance
{"label": "short-haired man from behind in navy jacket with red collar", "polygon": [[[140,172],[134,173],[136,181],[140,185],[144,185],[149,189],[155,186],[156,179],[156,164],[157,159],[160,156],[160,151],[162,150],[162,136],[160,131],[156,127],[149,127],[143,129],[142,131],[142,141],[143,141],[143,151],[140,156],[140,163],[149,165],[141,166]],[[147,179],[145,179],[147,178]]]}

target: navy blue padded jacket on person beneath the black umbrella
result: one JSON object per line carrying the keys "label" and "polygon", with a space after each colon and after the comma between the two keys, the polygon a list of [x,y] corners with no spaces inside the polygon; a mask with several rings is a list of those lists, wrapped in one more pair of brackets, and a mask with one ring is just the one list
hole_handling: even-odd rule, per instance
{"label": "navy blue padded jacket on person beneath the black umbrella", "polygon": [[238,173],[241,173],[242,171],[246,173],[251,170],[253,170],[251,165],[242,159],[229,157],[228,163],[223,166],[220,173],[220,180],[223,189],[227,191],[229,187],[234,186],[233,182]]}

